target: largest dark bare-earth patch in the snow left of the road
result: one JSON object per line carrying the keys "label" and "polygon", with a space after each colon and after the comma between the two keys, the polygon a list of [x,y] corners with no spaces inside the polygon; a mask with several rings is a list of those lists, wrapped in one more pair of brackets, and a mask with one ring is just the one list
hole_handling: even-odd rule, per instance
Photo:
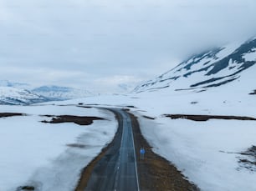
{"label": "largest dark bare-earth patch in the snow left of the road", "polygon": [[74,115],[59,115],[51,116],[44,115],[44,117],[52,118],[50,121],[42,121],[42,123],[76,123],[79,125],[90,125],[94,123],[94,120],[105,120],[105,118],[98,117],[86,117],[86,116],[74,116]]}

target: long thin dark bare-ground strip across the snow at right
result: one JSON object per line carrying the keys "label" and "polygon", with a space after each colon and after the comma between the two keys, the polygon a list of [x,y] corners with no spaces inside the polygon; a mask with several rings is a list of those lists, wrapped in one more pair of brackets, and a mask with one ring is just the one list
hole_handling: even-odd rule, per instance
{"label": "long thin dark bare-ground strip across the snow at right", "polygon": [[236,120],[256,120],[256,118],[242,116],[226,116],[226,115],[187,115],[187,114],[165,114],[167,118],[177,119],[186,118],[193,121],[207,121],[209,119],[236,119]]}

